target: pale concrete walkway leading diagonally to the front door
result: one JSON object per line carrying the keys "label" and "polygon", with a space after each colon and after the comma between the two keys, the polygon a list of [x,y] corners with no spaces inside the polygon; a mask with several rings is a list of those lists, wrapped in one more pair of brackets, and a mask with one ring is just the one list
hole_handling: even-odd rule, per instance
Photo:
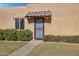
{"label": "pale concrete walkway leading diagonally to the front door", "polygon": [[42,40],[31,40],[24,47],[14,51],[8,56],[26,56],[33,48],[35,48],[37,45],[39,45],[42,42],[43,42]]}

